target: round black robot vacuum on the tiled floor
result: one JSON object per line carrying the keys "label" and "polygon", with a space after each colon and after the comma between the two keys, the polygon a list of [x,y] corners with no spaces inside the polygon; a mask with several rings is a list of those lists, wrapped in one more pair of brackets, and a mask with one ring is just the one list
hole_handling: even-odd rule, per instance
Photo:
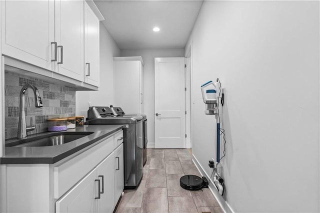
{"label": "round black robot vacuum on the tiled floor", "polygon": [[208,187],[208,180],[203,176],[187,174],[180,177],[180,186],[187,190],[198,190]]}

